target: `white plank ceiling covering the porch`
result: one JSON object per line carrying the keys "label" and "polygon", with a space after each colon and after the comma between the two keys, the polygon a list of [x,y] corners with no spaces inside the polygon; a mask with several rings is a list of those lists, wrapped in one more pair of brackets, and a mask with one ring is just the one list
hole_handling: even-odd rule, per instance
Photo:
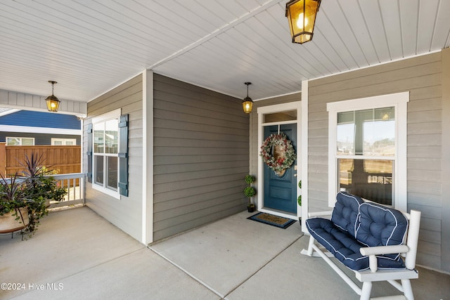
{"label": "white plank ceiling covering the porch", "polygon": [[292,44],[288,0],[0,2],[0,89],[86,101],[145,69],[238,98],[450,46],[449,0],[322,0]]}

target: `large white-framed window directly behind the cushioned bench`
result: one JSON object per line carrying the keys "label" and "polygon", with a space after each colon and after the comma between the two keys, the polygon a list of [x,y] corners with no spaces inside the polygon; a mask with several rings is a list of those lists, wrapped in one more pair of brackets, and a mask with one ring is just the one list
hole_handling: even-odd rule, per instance
{"label": "large white-framed window directly behind the cushioned bench", "polygon": [[409,92],[328,103],[328,205],[347,191],[406,211]]}

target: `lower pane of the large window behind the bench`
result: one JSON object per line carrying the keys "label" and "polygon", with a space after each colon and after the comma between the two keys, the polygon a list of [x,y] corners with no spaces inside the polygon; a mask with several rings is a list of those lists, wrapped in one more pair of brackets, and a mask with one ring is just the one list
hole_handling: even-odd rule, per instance
{"label": "lower pane of the large window behind the bench", "polygon": [[338,159],[341,191],[380,204],[392,205],[393,160]]}

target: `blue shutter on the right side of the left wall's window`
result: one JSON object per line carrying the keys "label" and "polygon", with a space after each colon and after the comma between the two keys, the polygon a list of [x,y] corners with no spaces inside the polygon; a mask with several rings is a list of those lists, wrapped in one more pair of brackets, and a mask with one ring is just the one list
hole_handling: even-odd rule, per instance
{"label": "blue shutter on the right side of the left wall's window", "polygon": [[128,197],[128,115],[119,119],[119,193]]}

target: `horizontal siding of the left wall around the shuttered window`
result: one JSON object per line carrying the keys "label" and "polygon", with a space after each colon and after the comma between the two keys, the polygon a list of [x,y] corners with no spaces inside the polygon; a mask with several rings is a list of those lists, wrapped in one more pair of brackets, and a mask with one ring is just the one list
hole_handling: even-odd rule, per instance
{"label": "horizontal siding of the left wall around the shuttered window", "polygon": [[[117,200],[94,190],[92,184],[86,182],[86,205],[136,240],[141,240],[142,235],[142,107],[142,76],[139,75],[89,102],[83,131],[86,141],[86,127],[91,123],[92,117],[118,108],[122,109],[122,115],[129,114],[129,196],[121,196]],[[83,149],[86,170],[86,143]]]}

